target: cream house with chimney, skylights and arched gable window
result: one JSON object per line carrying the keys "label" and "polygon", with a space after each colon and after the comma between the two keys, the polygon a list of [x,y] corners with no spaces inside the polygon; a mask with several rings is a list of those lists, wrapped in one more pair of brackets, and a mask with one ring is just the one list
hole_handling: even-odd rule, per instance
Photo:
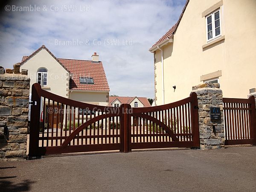
{"label": "cream house with chimney, skylights and arched gable window", "polygon": [[[31,55],[23,56],[20,68],[28,70],[30,93],[32,84],[39,83],[42,89],[68,99],[93,105],[108,105],[108,81],[96,52],[90,61],[56,58],[42,45]],[[78,111],[76,117],[77,114]]]}

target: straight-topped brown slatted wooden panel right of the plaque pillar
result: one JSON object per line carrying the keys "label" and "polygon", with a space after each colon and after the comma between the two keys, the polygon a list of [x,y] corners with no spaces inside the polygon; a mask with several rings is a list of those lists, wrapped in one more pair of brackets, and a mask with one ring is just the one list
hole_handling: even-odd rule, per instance
{"label": "straight-topped brown slatted wooden panel right of the plaque pillar", "polygon": [[255,98],[223,98],[225,145],[256,144]]}

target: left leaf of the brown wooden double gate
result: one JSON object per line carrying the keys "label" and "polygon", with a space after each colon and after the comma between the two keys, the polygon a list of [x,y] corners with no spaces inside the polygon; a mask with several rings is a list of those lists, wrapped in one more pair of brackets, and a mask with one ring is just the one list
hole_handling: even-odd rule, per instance
{"label": "left leaf of the brown wooden double gate", "polygon": [[[114,108],[73,101],[49,93],[37,83],[32,85],[31,100],[29,156],[124,151],[120,126],[124,105]],[[41,128],[40,117],[44,124]]]}

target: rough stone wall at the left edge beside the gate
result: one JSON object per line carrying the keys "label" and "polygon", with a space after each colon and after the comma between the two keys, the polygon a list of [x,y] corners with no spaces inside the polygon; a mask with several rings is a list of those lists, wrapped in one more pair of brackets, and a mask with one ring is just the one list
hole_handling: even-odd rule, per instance
{"label": "rough stone wall at the left edge beside the gate", "polygon": [[0,160],[26,158],[29,83],[19,64],[14,70],[0,67]]}

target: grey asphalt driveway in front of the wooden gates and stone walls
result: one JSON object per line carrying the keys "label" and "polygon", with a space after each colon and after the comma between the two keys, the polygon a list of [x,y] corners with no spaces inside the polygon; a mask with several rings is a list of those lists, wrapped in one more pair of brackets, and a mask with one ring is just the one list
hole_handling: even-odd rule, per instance
{"label": "grey asphalt driveway in front of the wooden gates and stone walls", "polygon": [[0,191],[256,191],[256,147],[0,162]]}

